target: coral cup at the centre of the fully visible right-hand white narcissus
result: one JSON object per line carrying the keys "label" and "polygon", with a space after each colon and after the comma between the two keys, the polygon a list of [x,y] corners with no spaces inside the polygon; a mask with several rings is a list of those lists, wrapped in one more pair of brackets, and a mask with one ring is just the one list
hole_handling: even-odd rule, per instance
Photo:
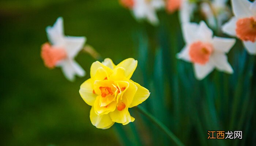
{"label": "coral cup at the centre of the fully visible right-hand white narcissus", "polygon": [[189,46],[189,56],[191,62],[197,64],[206,64],[209,61],[213,47],[210,43],[195,42]]}

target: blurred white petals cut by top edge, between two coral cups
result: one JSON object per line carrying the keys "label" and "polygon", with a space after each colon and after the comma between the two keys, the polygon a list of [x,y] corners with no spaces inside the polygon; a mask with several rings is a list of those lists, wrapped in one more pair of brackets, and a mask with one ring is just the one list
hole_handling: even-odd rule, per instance
{"label": "blurred white petals cut by top edge, between two coral cups", "polygon": [[153,25],[157,25],[157,10],[165,6],[163,0],[134,0],[133,15],[137,19],[147,19]]}

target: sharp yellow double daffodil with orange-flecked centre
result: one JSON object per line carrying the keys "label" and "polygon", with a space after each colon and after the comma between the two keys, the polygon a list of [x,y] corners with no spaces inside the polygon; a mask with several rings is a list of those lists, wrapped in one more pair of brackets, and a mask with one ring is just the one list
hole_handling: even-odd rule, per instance
{"label": "sharp yellow double daffodil with orange-flecked centre", "polygon": [[115,122],[123,125],[133,122],[128,108],[132,108],[150,95],[149,91],[130,80],[137,61],[128,58],[118,65],[106,58],[91,65],[90,76],[83,82],[79,93],[91,107],[91,123],[101,129],[110,128]]}

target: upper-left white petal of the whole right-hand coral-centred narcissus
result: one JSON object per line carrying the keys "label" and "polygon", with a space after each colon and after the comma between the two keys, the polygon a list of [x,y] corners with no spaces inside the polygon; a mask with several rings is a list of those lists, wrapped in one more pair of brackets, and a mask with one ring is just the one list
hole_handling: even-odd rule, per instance
{"label": "upper-left white petal of the whole right-hand coral-centred narcissus", "polygon": [[198,40],[197,37],[198,25],[196,23],[183,23],[182,34],[186,43],[192,43]]}

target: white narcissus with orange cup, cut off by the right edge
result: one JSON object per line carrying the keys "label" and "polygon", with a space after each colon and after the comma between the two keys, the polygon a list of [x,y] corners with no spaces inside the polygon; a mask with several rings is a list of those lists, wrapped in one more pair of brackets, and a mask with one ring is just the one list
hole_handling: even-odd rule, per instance
{"label": "white narcissus with orange cup, cut off by the right edge", "polygon": [[234,17],[223,25],[222,31],[244,43],[249,54],[256,55],[256,1],[231,0]]}

